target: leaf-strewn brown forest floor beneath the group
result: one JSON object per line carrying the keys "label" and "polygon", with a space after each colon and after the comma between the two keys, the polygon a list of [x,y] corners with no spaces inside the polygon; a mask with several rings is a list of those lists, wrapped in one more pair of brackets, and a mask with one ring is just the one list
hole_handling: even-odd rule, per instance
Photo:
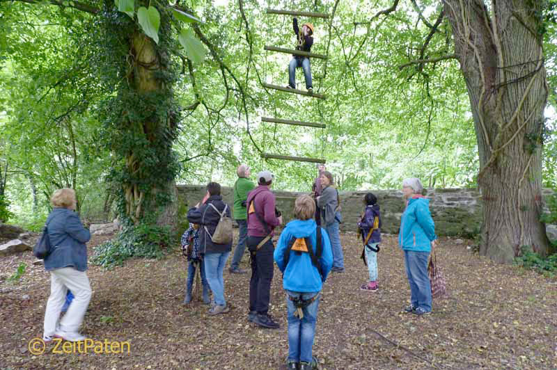
{"label": "leaf-strewn brown forest floor beneath the group", "polygon": [[[95,236],[89,250],[110,236]],[[557,369],[557,280],[478,257],[441,238],[437,259],[450,295],[433,312],[401,312],[409,303],[402,252],[383,236],[379,291],[360,291],[367,268],[354,233],[343,234],[345,273],[324,284],[313,353],[320,369]],[[93,247],[93,248],[92,248]],[[224,273],[228,314],[182,305],[186,262],[176,250],[161,260],[133,259],[111,271],[90,266],[93,298],[81,332],[95,341],[129,341],[130,353],[33,355],[42,336],[49,275],[31,252],[0,257],[0,369],[281,369],[288,353],[285,295],[275,268],[270,313],[278,330],[246,321],[249,274]],[[17,284],[6,278],[20,262]],[[230,262],[230,259],[229,259]],[[248,256],[242,268],[248,268]],[[76,348],[76,352],[79,348]],[[56,351],[74,351],[72,348]],[[116,351],[116,350],[114,350]]]}

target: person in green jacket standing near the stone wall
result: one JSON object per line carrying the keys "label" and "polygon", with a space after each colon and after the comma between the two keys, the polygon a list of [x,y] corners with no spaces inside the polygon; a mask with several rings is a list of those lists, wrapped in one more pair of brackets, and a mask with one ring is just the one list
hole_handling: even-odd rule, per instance
{"label": "person in green jacket standing near the stone wall", "polygon": [[238,179],[234,184],[234,218],[240,227],[240,238],[238,239],[238,245],[234,251],[234,257],[230,263],[230,268],[228,271],[230,273],[246,273],[247,271],[240,268],[240,261],[242,261],[242,256],[246,250],[246,239],[248,236],[248,224],[246,222],[247,210],[246,210],[246,200],[248,198],[248,193],[256,187],[253,182],[249,179],[250,170],[249,166],[246,164],[241,164],[236,170]]}

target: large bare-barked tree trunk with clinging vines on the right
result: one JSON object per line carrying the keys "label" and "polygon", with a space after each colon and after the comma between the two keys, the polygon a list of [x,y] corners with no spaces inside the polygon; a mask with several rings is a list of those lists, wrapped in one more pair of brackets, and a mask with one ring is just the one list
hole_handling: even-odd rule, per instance
{"label": "large bare-barked tree trunk with clinging vines on the right", "polygon": [[540,3],[446,0],[480,154],[480,254],[511,263],[523,246],[549,252],[542,211],[542,129],[547,102]]}

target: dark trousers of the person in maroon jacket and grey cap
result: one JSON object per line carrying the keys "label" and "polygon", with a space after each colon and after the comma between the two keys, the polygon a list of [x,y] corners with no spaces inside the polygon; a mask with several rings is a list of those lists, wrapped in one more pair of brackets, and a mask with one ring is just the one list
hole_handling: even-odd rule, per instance
{"label": "dark trousers of the person in maroon jacket and grey cap", "polygon": [[251,253],[251,280],[249,280],[249,310],[258,314],[267,314],[269,299],[271,298],[271,282],[273,280],[273,252],[272,239],[257,252],[256,247],[265,239],[264,236],[248,236],[248,248]]}

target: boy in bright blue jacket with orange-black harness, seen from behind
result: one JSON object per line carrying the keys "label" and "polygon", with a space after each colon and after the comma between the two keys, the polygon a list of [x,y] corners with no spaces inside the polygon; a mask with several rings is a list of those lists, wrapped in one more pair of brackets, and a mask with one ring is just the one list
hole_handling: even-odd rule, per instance
{"label": "boy in bright blue jacket with orange-black harness, seen from behind", "polygon": [[317,369],[317,357],[311,353],[317,308],[322,283],[333,266],[329,236],[317,227],[314,214],[314,200],[309,195],[299,196],[294,207],[295,220],[286,225],[274,250],[286,291],[287,367],[292,370]]}

